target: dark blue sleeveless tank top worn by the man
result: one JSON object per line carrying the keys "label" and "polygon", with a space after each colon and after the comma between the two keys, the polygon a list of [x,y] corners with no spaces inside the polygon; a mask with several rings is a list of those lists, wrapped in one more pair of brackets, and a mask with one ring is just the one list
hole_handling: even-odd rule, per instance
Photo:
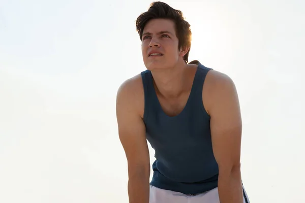
{"label": "dark blue sleeveless tank top worn by the man", "polygon": [[[192,63],[192,62],[191,62]],[[155,149],[150,185],[192,195],[218,185],[218,164],[212,151],[210,117],[202,102],[209,70],[197,61],[193,86],[185,108],[170,117],[163,111],[149,70],[141,73],[144,88],[146,139]]]}

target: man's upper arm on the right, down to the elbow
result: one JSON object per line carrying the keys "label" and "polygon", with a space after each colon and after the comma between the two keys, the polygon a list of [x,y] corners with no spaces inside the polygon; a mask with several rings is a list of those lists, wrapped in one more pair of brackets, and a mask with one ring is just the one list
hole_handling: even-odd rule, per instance
{"label": "man's upper arm on the right, down to the elbow", "polygon": [[240,162],[241,116],[233,81],[224,77],[212,97],[210,129],[212,147],[220,170],[230,170]]}

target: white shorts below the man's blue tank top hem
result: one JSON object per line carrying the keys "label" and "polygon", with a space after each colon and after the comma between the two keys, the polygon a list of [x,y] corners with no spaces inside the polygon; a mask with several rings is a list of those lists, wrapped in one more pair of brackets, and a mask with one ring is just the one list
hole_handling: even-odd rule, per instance
{"label": "white shorts below the man's blue tank top hem", "polygon": [[[243,203],[250,203],[248,195],[243,189]],[[164,190],[150,185],[149,203],[220,203],[218,188],[196,195],[186,195],[180,192]]]}

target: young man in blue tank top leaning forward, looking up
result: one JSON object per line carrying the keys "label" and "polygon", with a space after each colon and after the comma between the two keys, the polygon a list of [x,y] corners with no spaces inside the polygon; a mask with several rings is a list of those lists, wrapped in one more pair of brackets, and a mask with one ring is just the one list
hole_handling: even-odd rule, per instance
{"label": "young man in blue tank top leaning forward, looking up", "polygon": [[[136,22],[147,68],[117,92],[130,203],[249,202],[240,175],[241,116],[225,74],[188,63],[190,24],[165,3]],[[149,184],[147,142],[155,149]]]}

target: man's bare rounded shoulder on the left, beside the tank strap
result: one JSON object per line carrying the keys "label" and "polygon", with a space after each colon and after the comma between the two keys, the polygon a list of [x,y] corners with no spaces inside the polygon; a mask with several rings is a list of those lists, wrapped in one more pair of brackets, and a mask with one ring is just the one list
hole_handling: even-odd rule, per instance
{"label": "man's bare rounded shoulder on the left, beside the tank strap", "polygon": [[129,78],[119,86],[116,105],[131,108],[142,116],[144,111],[144,89],[141,74]]}

